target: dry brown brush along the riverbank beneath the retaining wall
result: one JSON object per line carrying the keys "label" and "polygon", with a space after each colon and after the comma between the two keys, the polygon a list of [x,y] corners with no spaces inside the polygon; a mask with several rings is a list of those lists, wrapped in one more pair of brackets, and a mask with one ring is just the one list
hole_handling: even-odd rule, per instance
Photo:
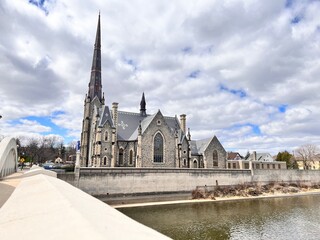
{"label": "dry brown brush along the riverbank beneath the retaining wall", "polygon": [[320,189],[320,184],[308,186],[296,183],[270,183],[267,185],[237,185],[237,186],[215,186],[197,187],[192,191],[192,199],[213,199],[216,197],[251,197],[263,195],[277,195],[308,192]]}

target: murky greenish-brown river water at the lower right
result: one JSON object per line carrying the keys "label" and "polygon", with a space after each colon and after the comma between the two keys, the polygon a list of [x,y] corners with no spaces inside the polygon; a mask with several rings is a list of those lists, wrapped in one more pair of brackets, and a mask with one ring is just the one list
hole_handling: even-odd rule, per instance
{"label": "murky greenish-brown river water at the lower right", "polygon": [[119,210],[173,239],[320,239],[320,195]]}

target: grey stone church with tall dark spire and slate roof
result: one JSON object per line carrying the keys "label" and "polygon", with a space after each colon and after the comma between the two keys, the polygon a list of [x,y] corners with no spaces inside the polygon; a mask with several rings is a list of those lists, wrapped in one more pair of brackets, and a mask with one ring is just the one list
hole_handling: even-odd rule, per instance
{"label": "grey stone church with tall dark spire and slate roof", "polygon": [[[138,101],[137,101],[138,103]],[[149,114],[142,93],[140,110],[105,105],[101,84],[100,15],[89,90],[84,100],[81,167],[226,168],[227,153],[217,137],[191,140],[186,115]],[[137,104],[138,110],[138,104]]]}

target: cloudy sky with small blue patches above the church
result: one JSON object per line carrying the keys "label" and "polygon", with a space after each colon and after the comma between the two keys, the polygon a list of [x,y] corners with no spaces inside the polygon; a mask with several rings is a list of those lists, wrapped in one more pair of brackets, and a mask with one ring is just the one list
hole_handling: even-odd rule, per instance
{"label": "cloudy sky with small blue patches above the church", "polygon": [[106,104],[227,151],[320,146],[320,1],[1,0],[0,135],[80,140],[98,14]]}

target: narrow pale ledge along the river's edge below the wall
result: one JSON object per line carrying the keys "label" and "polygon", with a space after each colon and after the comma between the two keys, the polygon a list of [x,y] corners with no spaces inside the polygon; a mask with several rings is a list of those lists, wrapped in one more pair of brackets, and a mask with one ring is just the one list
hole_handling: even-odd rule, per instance
{"label": "narrow pale ledge along the river's edge below the wall", "polygon": [[245,201],[252,199],[263,199],[263,198],[286,198],[286,197],[299,197],[307,195],[320,195],[320,189],[314,188],[299,188],[299,192],[287,192],[283,193],[280,191],[275,192],[263,192],[257,196],[221,196],[221,197],[208,197],[199,199],[188,199],[188,200],[176,200],[176,201],[157,201],[157,202],[141,202],[141,203],[130,203],[130,204],[111,204],[114,208],[133,208],[133,207],[146,207],[146,206],[157,206],[157,205],[174,205],[174,204],[190,204],[190,203],[203,203],[203,202],[225,202],[225,201]]}

